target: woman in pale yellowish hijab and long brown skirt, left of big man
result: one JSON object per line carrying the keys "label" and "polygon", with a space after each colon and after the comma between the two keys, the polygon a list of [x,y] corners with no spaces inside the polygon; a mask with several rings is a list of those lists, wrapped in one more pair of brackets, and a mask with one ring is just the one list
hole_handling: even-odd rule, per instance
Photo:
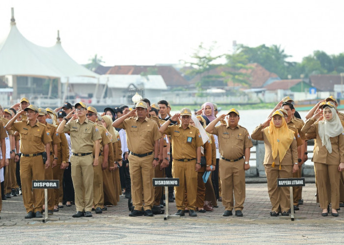
{"label": "woman in pale yellowish hijab and long brown skirt, left of big man", "polygon": [[111,135],[112,140],[112,144],[109,144],[109,168],[103,170],[104,205],[117,205],[115,181],[112,173],[115,169],[114,142],[117,141],[117,138],[115,137],[111,117],[108,115],[102,116],[102,123]]}

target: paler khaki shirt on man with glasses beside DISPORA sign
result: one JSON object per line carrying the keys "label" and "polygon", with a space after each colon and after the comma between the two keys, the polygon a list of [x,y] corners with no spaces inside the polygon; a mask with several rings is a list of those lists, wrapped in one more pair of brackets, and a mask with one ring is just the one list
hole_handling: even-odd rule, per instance
{"label": "paler khaki shirt on man with glasses beside DISPORA sign", "polygon": [[101,139],[98,125],[87,118],[84,123],[80,123],[79,119],[70,120],[63,128],[63,132],[69,131],[73,153],[90,153],[93,150],[93,141]]}

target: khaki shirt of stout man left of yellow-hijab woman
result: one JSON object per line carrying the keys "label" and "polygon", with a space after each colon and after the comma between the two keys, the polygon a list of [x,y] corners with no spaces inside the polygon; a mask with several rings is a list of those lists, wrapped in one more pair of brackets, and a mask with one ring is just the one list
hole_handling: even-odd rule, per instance
{"label": "khaki shirt of stout man left of yellow-hijab woman", "polygon": [[231,129],[221,124],[214,127],[213,134],[218,136],[221,156],[227,159],[238,159],[245,155],[246,148],[253,147],[249,132],[240,125]]}

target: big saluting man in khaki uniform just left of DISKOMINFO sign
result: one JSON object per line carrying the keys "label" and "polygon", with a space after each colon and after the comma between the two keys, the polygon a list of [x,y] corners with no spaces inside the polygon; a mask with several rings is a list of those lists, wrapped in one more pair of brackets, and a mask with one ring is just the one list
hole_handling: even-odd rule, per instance
{"label": "big saluting man in khaki uniform just left of DISKOMINFO sign", "polygon": [[[158,125],[146,117],[147,104],[139,101],[134,110],[120,117],[114,127],[123,128],[127,133],[130,150],[131,196],[134,211],[129,216],[153,216],[154,187],[152,178],[158,165],[159,139]],[[135,117],[136,114],[136,117]],[[153,155],[154,153],[154,155]],[[142,202],[142,191],[144,205]],[[144,212],[142,212],[142,207]]]}

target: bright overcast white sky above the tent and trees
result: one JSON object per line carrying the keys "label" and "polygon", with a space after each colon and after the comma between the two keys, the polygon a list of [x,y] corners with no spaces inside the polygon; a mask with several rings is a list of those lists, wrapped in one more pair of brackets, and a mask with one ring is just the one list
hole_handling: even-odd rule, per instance
{"label": "bright overcast white sky above the tent and trees", "polygon": [[107,66],[174,64],[201,42],[231,52],[233,40],[281,45],[298,62],[316,49],[344,52],[344,0],[1,0],[0,40],[11,7],[29,41],[53,46],[58,29],[80,64],[94,54]]}

